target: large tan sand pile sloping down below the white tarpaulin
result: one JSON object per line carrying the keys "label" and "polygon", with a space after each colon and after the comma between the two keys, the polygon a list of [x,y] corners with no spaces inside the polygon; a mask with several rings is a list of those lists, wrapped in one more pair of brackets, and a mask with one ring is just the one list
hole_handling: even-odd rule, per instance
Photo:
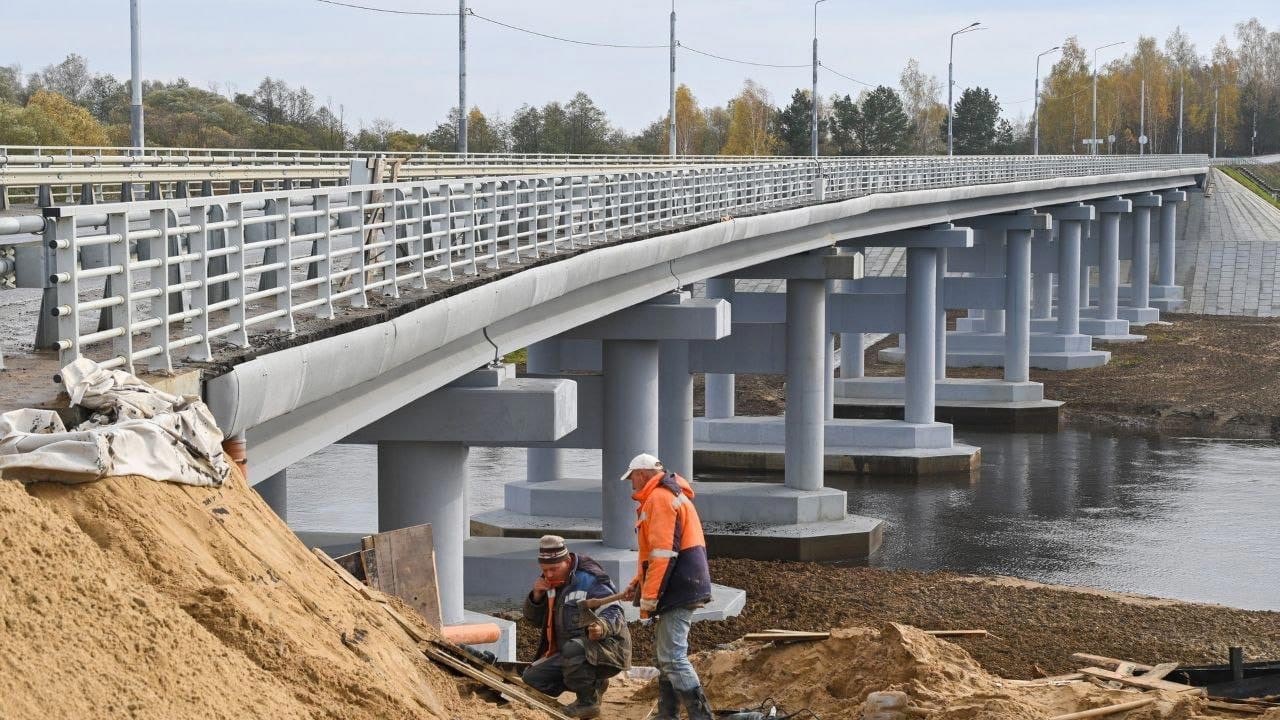
{"label": "large tan sand pile sloping down below the white tarpaulin", "polygon": [[0,717],[534,716],[460,693],[238,473],[0,479]]}

